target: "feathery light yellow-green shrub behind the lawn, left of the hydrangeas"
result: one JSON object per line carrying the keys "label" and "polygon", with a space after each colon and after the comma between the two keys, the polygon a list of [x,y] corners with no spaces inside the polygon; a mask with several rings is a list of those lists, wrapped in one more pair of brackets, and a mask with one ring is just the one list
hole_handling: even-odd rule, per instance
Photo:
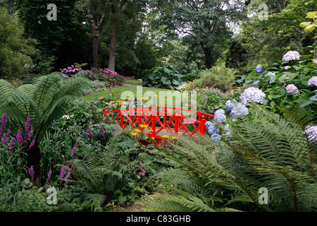
{"label": "feathery light yellow-green shrub behind the lawn, left of the hydrangeas", "polygon": [[228,69],[225,65],[213,66],[199,72],[199,79],[194,81],[194,86],[198,88],[218,88],[223,92],[229,90],[234,84],[235,69]]}

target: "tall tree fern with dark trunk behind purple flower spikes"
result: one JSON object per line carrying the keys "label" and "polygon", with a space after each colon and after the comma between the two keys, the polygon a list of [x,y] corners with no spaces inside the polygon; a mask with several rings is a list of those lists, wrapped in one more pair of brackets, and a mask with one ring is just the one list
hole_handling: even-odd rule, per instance
{"label": "tall tree fern with dark trunk behind purple flower spikes", "polygon": [[[35,145],[32,152],[27,153],[27,165],[33,165],[35,178],[39,184],[40,152],[39,142],[51,123],[61,117],[70,105],[76,104],[80,95],[97,83],[81,76],[68,78],[62,73],[51,73],[36,78],[32,84],[13,87],[8,81],[0,80],[0,114],[6,113],[11,122],[11,130],[24,132],[23,125],[30,117]],[[25,145],[28,147],[28,144]],[[28,151],[28,150],[25,150]]]}

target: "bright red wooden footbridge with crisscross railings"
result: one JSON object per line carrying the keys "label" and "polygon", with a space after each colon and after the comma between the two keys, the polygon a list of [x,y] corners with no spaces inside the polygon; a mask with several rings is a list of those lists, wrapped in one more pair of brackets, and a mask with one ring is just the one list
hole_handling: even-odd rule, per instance
{"label": "bright red wooden footbridge with crisscross railings", "polygon": [[[186,112],[186,114],[185,114]],[[190,117],[184,116],[190,114]],[[161,136],[171,133],[189,134],[189,136],[204,135],[206,131],[206,117],[213,118],[212,114],[197,112],[192,109],[177,107],[138,107],[104,109],[105,117],[112,117],[114,123],[125,129],[128,125],[140,131],[144,130],[147,136],[161,140]],[[145,125],[145,126],[144,126]]]}

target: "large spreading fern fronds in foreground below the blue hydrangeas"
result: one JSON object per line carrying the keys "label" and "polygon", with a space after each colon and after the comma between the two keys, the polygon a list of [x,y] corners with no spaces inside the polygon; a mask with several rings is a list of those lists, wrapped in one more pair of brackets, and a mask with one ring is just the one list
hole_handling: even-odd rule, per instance
{"label": "large spreading fern fronds in foreground below the blue hydrangeas", "polygon": [[[316,143],[304,136],[310,121],[305,115],[280,117],[252,107],[235,123],[230,143],[182,136],[169,148],[149,150],[173,168],[158,177],[168,194],[145,200],[147,210],[316,210]],[[268,189],[268,204],[259,203],[262,187]]]}

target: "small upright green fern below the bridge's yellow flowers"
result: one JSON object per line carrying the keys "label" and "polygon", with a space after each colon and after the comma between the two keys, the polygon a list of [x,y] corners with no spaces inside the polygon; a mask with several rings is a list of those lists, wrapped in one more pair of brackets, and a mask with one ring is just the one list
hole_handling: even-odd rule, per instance
{"label": "small upright green fern below the bridge's yellow flowers", "polygon": [[[93,145],[78,142],[83,157],[82,160],[74,160],[73,166],[77,177],[89,186],[89,192],[96,194],[89,197],[101,198],[99,202],[94,201],[97,205],[95,210],[101,210],[102,204],[111,201],[114,191],[125,184],[125,175],[132,173],[139,163],[137,160],[130,160],[130,152],[135,148],[133,142],[126,141],[122,135],[122,132],[116,133],[99,150]],[[93,205],[91,201],[87,203]]]}

